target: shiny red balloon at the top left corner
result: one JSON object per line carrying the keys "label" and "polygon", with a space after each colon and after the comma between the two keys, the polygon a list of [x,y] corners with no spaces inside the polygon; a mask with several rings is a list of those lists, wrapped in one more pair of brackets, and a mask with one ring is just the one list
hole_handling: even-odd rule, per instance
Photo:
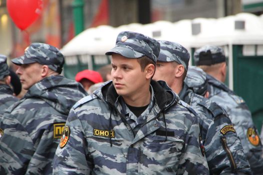
{"label": "shiny red balloon at the top left corner", "polygon": [[7,0],[7,7],[14,23],[22,30],[31,25],[42,11],[42,0]]}

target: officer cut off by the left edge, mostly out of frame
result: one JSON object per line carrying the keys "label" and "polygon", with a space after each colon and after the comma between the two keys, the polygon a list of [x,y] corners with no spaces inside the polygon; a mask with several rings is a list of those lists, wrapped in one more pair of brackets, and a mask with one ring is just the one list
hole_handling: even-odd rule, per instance
{"label": "officer cut off by the left edge, mostly out of frame", "polygon": [[[13,89],[10,86],[11,76],[8,69],[7,57],[0,54],[0,114],[18,101],[18,98],[13,95]],[[1,134],[0,130],[0,134]]]}

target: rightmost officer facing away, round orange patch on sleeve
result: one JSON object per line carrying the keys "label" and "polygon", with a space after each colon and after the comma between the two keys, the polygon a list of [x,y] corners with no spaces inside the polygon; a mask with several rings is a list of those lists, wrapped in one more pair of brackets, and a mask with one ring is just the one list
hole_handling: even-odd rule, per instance
{"label": "rightmost officer facing away, round orange patch on sleeve", "polygon": [[242,97],[237,96],[223,83],[226,77],[223,49],[205,45],[194,52],[194,62],[208,74],[209,99],[216,101],[229,115],[253,174],[263,174],[262,144],[253,124],[251,112]]}

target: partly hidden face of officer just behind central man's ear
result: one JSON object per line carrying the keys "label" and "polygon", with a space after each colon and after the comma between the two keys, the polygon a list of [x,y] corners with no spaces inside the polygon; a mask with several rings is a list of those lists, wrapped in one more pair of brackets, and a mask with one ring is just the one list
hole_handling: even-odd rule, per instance
{"label": "partly hidden face of officer just behind central man's ear", "polygon": [[175,80],[175,68],[176,64],[174,62],[157,61],[153,79],[166,81],[171,86]]}

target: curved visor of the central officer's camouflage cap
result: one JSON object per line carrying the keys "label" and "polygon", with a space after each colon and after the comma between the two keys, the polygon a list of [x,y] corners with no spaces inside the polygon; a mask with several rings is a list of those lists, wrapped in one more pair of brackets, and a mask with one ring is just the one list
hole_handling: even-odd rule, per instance
{"label": "curved visor of the central officer's camouflage cap", "polygon": [[105,54],[106,55],[112,55],[112,53],[118,53],[122,56],[129,57],[129,58],[139,58],[139,57],[142,57],[145,55],[145,54],[140,53],[138,51],[135,51],[131,48],[121,47],[121,46],[114,47],[114,48],[110,49],[110,51],[107,51]]}

